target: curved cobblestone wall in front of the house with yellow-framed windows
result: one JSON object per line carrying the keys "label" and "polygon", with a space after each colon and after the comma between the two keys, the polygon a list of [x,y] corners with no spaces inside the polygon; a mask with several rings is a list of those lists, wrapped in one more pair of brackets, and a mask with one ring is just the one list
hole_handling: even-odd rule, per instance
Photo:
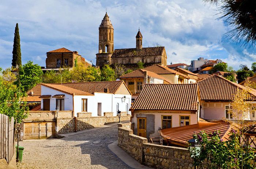
{"label": "curved cobblestone wall in front of the house with yellow-framed windows", "polygon": [[118,146],[140,163],[161,169],[194,169],[187,149],[150,144],[147,138],[132,134],[127,125],[119,126]]}

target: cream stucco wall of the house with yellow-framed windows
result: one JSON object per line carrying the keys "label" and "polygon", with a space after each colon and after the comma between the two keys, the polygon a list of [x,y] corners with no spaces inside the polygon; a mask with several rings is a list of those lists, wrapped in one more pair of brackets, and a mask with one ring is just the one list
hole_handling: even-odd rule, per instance
{"label": "cream stucco wall of the house with yellow-framed windows", "polygon": [[[137,133],[137,115],[139,117],[146,117],[146,115],[154,115],[154,123],[152,123],[149,120],[146,120],[147,127],[150,125],[150,127],[154,124],[154,133],[149,134],[149,137],[159,137],[158,128],[162,128],[162,115],[172,115],[172,127],[179,127],[180,126],[180,116],[190,116],[190,125],[197,123],[197,114],[195,113],[147,113],[147,112],[140,112],[140,113],[134,113],[133,118],[131,122],[134,123],[134,130]],[[149,123],[149,124],[148,124]],[[149,130],[149,129],[146,129]]]}

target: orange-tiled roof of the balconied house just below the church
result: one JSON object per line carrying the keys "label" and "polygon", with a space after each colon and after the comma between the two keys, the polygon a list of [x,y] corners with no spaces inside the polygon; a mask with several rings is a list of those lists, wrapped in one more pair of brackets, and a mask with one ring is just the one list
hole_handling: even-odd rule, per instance
{"label": "orange-tiled roof of the balconied house just below the church", "polygon": [[172,83],[171,80],[169,80],[169,79],[167,79],[167,78],[165,78],[161,75],[158,75],[154,72],[143,70],[143,69],[138,69],[138,70],[132,71],[130,73],[127,73],[125,75],[120,76],[120,78],[144,78],[144,72],[147,72],[147,75],[151,76],[153,78],[162,79],[162,80],[165,80],[168,83]]}

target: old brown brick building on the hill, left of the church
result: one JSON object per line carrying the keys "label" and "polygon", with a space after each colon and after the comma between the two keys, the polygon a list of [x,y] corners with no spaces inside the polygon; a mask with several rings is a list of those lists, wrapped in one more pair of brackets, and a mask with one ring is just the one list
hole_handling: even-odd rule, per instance
{"label": "old brown brick building on the hill, left of the church", "polygon": [[49,51],[46,55],[46,68],[74,67],[75,62],[91,66],[91,63],[79,55],[77,51],[70,51],[66,48]]}

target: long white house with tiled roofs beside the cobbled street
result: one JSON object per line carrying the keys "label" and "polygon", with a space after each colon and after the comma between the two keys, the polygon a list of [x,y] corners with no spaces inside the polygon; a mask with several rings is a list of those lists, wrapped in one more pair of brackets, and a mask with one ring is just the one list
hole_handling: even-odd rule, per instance
{"label": "long white house with tiled roofs beside the cobbled street", "polygon": [[103,116],[117,110],[130,114],[131,94],[123,81],[41,84],[41,109],[44,111],[91,112]]}

